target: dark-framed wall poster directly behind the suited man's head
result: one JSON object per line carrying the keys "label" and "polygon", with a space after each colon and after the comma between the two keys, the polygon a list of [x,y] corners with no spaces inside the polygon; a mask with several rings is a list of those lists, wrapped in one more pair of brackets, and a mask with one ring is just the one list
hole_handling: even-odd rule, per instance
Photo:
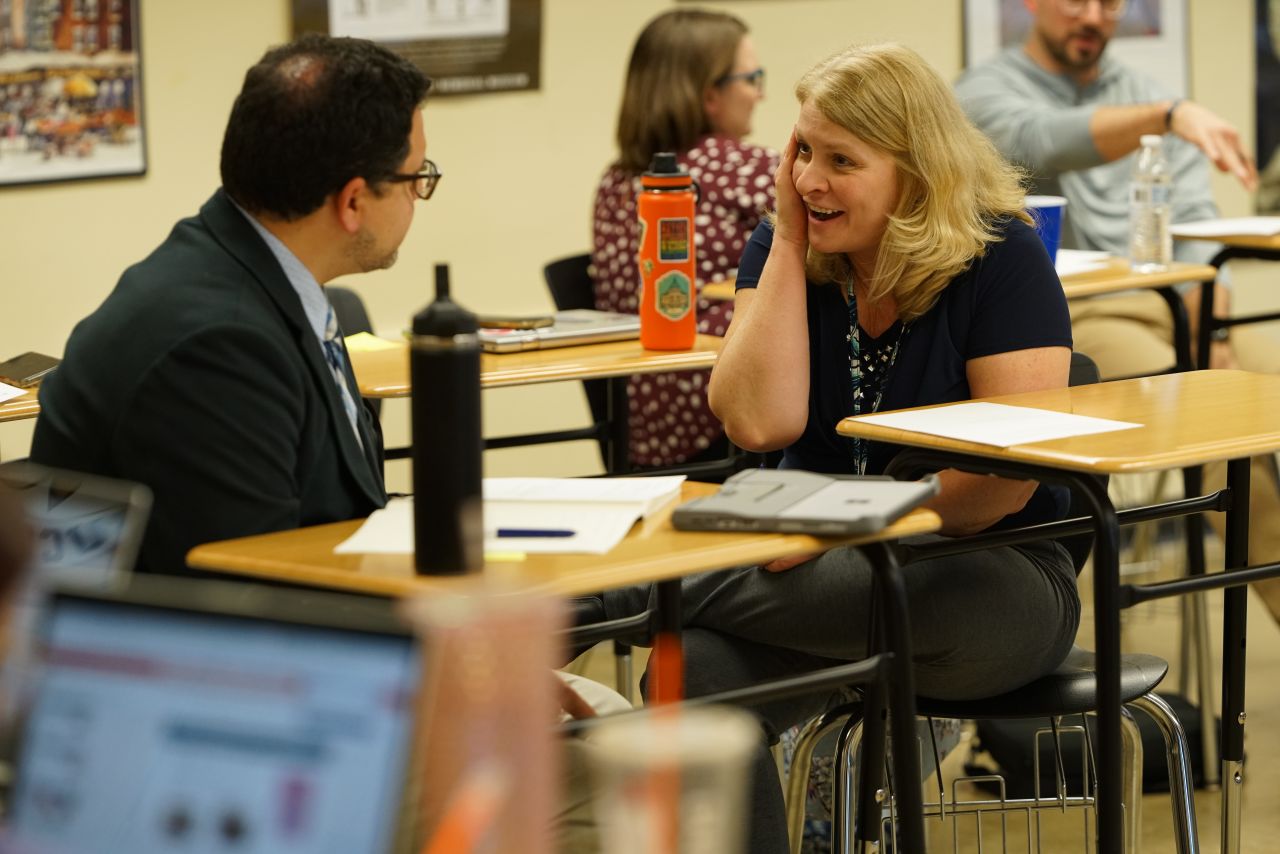
{"label": "dark-framed wall poster directly behind the suited man's head", "polygon": [[536,90],[543,0],[291,0],[293,35],[369,38],[426,72],[431,96]]}

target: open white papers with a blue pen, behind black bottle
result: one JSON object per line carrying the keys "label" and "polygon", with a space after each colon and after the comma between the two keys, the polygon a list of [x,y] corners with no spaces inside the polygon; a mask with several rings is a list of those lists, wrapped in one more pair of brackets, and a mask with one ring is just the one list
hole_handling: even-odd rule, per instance
{"label": "open white papers with a blue pen, behind black bottle", "polygon": [[[485,552],[604,554],[680,495],[671,478],[485,478]],[[334,549],[413,552],[413,503],[392,501]]]}

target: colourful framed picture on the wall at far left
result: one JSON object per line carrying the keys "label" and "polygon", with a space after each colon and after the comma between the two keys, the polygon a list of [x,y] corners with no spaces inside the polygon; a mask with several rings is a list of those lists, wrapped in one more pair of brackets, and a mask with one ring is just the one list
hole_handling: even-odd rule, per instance
{"label": "colourful framed picture on the wall at far left", "polygon": [[146,173],[140,0],[0,0],[0,184]]}

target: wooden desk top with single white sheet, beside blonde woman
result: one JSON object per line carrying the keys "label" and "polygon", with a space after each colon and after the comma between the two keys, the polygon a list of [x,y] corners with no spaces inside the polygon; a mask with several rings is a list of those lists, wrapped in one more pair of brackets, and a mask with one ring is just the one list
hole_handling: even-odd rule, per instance
{"label": "wooden desk top with single white sheet, beside blonde woman", "polygon": [[877,426],[859,419],[845,419],[837,430],[879,442],[1098,474],[1180,469],[1280,448],[1280,376],[1271,374],[1192,371],[980,399],[1142,426],[1009,448]]}

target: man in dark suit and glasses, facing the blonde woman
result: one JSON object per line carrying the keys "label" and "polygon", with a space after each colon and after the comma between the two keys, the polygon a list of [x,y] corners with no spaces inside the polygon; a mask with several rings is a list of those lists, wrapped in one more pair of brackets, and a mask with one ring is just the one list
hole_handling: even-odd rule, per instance
{"label": "man in dark suit and glasses, facing the blonde woman", "polygon": [[381,431],[321,286],[390,266],[431,195],[429,88],[362,40],[268,51],[232,108],[223,187],[72,333],[31,456],[151,487],[140,570],[385,503]]}

